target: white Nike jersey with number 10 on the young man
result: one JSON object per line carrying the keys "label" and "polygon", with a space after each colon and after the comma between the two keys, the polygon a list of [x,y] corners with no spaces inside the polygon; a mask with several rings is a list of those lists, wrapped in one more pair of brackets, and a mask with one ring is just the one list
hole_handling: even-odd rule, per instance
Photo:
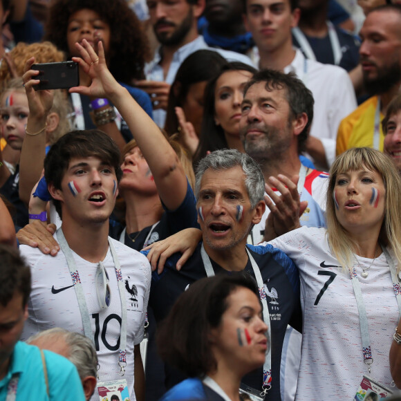
{"label": "white Nike jersey with number 10 on the young man", "polygon": [[[118,366],[121,301],[110,249],[103,261],[109,274],[111,289],[111,304],[106,309],[100,308],[97,300],[95,273],[98,263],[88,262],[75,252],[73,257],[91,317],[93,341],[100,364],[100,380],[127,379],[131,400],[136,400],[133,391],[133,347],[140,344],[143,337],[151,268],[142,254],[123,243],[113,239],[111,241],[120,261],[127,303],[127,366],[124,377],[120,377]],[[51,257],[26,245],[21,245],[19,249],[30,264],[32,272],[32,292],[28,301],[29,317],[21,339],[27,339],[39,331],[53,327],[84,334],[80,307],[63,252],[60,250],[56,257]],[[96,391],[91,400],[99,400]]]}

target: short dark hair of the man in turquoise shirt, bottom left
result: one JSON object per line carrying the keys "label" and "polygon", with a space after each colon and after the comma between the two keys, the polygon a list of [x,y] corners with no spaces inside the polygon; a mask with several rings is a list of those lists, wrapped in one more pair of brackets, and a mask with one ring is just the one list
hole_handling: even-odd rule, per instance
{"label": "short dark hair of the man in turquoise shirt, bottom left", "polygon": [[7,306],[15,292],[22,295],[22,307],[30,295],[30,268],[19,252],[0,244],[0,304]]}

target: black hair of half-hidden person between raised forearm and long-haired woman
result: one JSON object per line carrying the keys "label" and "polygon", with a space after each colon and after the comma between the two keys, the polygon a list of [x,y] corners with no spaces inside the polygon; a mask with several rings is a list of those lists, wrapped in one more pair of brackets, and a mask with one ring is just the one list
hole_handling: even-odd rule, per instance
{"label": "black hair of half-hidden person between raised forearm and long-haired woman", "polygon": [[178,68],[169,92],[165,123],[165,130],[169,135],[178,131],[176,107],[185,104],[189,86],[198,82],[209,81],[218,73],[223,64],[227,64],[223,56],[215,50],[207,49],[197,50],[183,61],[183,64]]}

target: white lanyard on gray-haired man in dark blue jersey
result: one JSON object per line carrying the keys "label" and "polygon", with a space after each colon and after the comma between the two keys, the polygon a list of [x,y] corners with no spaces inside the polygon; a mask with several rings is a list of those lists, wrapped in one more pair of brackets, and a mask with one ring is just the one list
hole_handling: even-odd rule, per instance
{"label": "white lanyard on gray-haired man in dark blue jersey", "polygon": [[[264,283],[261,275],[261,270],[259,269],[259,266],[257,263],[254,261],[254,258],[252,257],[252,254],[250,254],[248,248],[246,248],[246,252],[248,253],[248,257],[250,259],[252,269],[254,271],[254,276],[257,279],[257,285],[259,288],[259,297],[261,299],[261,303],[263,306],[263,321],[265,321],[265,324],[268,325],[268,330],[266,331],[266,337],[268,339],[268,349],[265,354],[265,363],[263,364],[263,384],[262,384],[262,393],[261,396],[265,396],[268,391],[272,388],[272,337],[270,333],[270,313],[269,313],[269,308],[268,308],[268,301],[266,300],[266,293],[265,293],[265,288],[264,288]],[[202,256],[202,261],[203,265],[205,266],[205,272],[207,277],[213,277],[214,276],[214,270],[212,266],[212,262],[209,259],[209,255],[205,251],[205,247],[201,247],[201,256]]]}

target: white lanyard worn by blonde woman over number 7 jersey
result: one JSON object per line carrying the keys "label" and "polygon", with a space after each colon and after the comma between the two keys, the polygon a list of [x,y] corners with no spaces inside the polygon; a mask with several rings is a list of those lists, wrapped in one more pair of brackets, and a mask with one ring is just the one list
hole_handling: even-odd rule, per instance
{"label": "white lanyard worn by blonde woman over number 7 jersey", "polygon": [[[397,277],[397,268],[393,261],[393,258],[389,254],[389,251],[386,248],[382,247],[384,256],[386,257],[387,263],[390,266],[391,279],[393,280],[393,289],[395,293],[395,297],[397,298],[398,303],[398,315],[401,315],[401,288],[400,281]],[[369,373],[371,373],[371,364],[373,364],[373,357],[371,351],[371,338],[369,336],[369,326],[368,326],[368,317],[366,315],[366,308],[364,299],[362,297],[362,290],[360,286],[360,281],[357,277],[357,272],[355,268],[353,268],[351,273],[351,281],[353,285],[353,290],[355,294],[355,299],[357,301],[357,308],[360,317],[360,330],[362,337],[362,353],[364,354],[364,363],[368,365]]]}

